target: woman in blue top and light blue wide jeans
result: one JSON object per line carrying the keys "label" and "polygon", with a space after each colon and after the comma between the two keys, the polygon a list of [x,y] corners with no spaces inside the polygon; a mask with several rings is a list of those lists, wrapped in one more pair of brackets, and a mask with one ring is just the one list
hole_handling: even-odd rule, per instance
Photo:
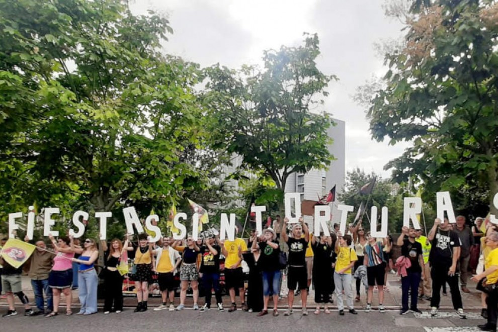
{"label": "woman in blue top and light blue wide jeans", "polygon": [[75,248],[74,252],[81,254],[72,261],[79,264],[78,295],[81,309],[78,315],[91,315],[97,312],[97,285],[99,277],[94,263],[99,258],[99,250],[94,239],[87,238],[82,248]]}

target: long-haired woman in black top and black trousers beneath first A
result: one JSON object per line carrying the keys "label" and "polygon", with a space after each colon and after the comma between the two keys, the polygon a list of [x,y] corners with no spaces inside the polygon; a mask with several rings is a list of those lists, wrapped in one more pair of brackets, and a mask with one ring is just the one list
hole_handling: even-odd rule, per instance
{"label": "long-haired woman in black top and black trousers beneath first A", "polygon": [[120,239],[113,238],[111,247],[108,248],[106,240],[101,240],[102,249],[104,252],[108,252],[104,265],[104,289],[106,290],[104,294],[104,314],[111,311],[116,313],[123,311],[123,276],[118,271],[118,266],[123,253],[127,250],[133,250],[128,248],[128,243],[128,234],[125,235],[124,245]]}

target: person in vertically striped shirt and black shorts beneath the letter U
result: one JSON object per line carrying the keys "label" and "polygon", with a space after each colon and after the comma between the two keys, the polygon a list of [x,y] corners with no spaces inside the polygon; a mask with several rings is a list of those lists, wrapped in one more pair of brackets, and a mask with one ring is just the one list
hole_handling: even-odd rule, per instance
{"label": "person in vertically striped shirt and black shorts beneath the letter U", "polygon": [[370,232],[367,232],[367,241],[365,245],[365,253],[363,265],[367,267],[367,306],[365,312],[372,309],[372,298],[375,285],[379,290],[379,312],[385,312],[384,308],[384,276],[386,273],[386,258],[384,257],[383,248],[387,244],[387,240],[376,241]]}

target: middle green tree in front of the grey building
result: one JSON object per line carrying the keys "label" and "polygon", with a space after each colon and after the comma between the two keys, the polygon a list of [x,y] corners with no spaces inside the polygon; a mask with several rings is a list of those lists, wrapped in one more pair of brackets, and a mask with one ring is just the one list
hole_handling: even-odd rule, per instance
{"label": "middle green tree in front of the grey building", "polygon": [[303,46],[265,51],[263,70],[219,65],[206,70],[205,100],[219,132],[216,146],[242,156],[240,169],[261,172],[280,192],[290,174],[333,160],[327,150],[333,121],[327,113],[311,112],[336,79],[317,68],[319,53],[318,37],[307,35]]}

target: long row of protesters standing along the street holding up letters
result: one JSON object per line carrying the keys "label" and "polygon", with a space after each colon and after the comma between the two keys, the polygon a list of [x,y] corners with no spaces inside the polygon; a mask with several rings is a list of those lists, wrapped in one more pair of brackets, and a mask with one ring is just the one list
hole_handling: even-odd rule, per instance
{"label": "long row of protesters standing along the street holding up letters", "polygon": [[[78,245],[70,236],[57,239],[50,236],[53,254],[46,251],[45,241],[39,239],[34,243],[37,250],[27,262],[35,296],[34,309],[22,291],[22,267],[15,269],[0,258],[3,266],[0,270],[2,288],[9,305],[3,316],[17,314],[14,295],[25,306],[25,315],[44,314],[46,317],[59,314],[64,295],[65,314],[71,315],[71,289],[74,289],[75,280],[80,302],[77,314],[94,314],[98,311],[99,277],[105,287],[104,314],[119,313],[123,310],[124,277],[118,267],[123,253],[132,252],[133,268],[128,277],[134,281],[136,290],[135,312],[148,309],[151,282],[158,284],[162,297],[162,303],[154,308],[155,311],[184,309],[189,288],[192,289],[194,310],[211,309],[214,291],[215,308],[224,311],[220,285],[220,274],[223,273],[224,287],[230,298],[228,312],[240,307],[264,316],[269,314],[272,299],[271,313],[278,316],[277,305],[285,275],[285,286],[288,288],[285,316],[293,314],[298,295],[301,314],[308,315],[306,303],[311,282],[316,304],[314,314],[320,314],[322,309],[325,314],[330,313],[333,294],[339,315],[344,315],[345,309],[357,314],[353,285],[356,286],[357,302],[362,296],[362,285],[365,287],[365,312],[373,309],[372,301],[374,293],[377,293],[378,311],[382,313],[385,312],[384,295],[389,291],[386,276],[395,266],[401,279],[400,314],[410,311],[421,313],[418,300],[425,299],[431,303],[430,314],[437,316],[441,290],[446,294],[448,285],[456,313],[465,318],[460,292],[470,292],[467,282],[473,275],[472,280],[478,282],[477,289],[482,292],[481,315],[487,319],[487,323],[479,327],[483,330],[496,328],[498,290],[494,286],[498,282],[498,225],[488,219],[477,218],[472,227],[466,224],[463,216],[458,216],[455,224],[450,224],[447,219],[436,219],[427,237],[422,235],[421,229],[404,226],[396,241],[401,250],[395,263],[392,237],[373,237],[364,229],[361,220],[350,225],[344,235],[339,231],[339,225],[334,225],[330,236],[323,233],[313,236],[302,218],[298,223],[289,223],[287,218],[280,220],[277,217],[273,225],[268,220],[264,226],[262,234],[251,231],[248,243],[240,237],[232,241],[220,239],[212,231],[204,232],[204,237],[197,241],[189,234],[185,240],[164,236],[158,242],[151,242],[146,233],[138,235],[136,245],[132,245],[128,236],[124,237],[123,242],[117,238],[110,242],[102,240],[104,264],[99,275],[96,270],[99,250],[94,239],[86,238]],[[5,244],[6,240],[3,239],[0,244]],[[28,241],[28,238],[25,240]],[[248,278],[242,270],[243,262],[250,268]],[[157,277],[154,281],[153,275]],[[247,284],[245,281],[248,281]],[[199,286],[205,293],[201,307],[198,304]],[[177,288],[180,288],[180,303],[175,307]]]}

